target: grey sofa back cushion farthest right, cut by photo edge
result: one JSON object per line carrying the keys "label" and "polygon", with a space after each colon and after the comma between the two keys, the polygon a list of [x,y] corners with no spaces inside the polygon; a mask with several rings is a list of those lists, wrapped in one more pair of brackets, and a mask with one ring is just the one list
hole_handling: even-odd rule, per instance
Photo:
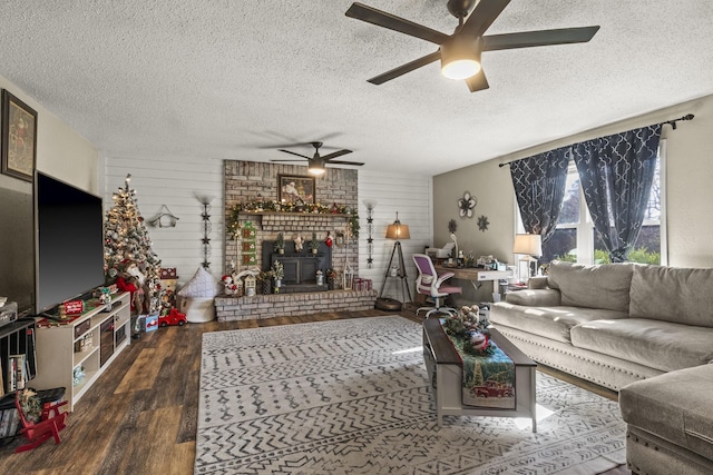
{"label": "grey sofa back cushion farthest right, cut by photo edge", "polygon": [[713,269],[635,266],[629,314],[713,328]]}

